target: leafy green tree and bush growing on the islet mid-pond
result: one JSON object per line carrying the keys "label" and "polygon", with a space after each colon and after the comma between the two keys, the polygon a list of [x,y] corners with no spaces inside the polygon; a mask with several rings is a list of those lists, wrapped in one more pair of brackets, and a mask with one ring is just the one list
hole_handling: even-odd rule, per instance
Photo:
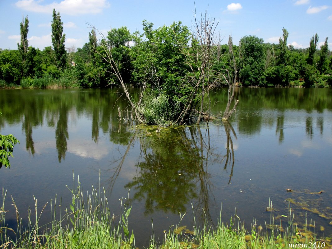
{"label": "leafy green tree and bush growing on the islet mid-pond", "polygon": [[141,111],[148,124],[161,124],[161,120],[174,121],[178,117],[192,90],[186,78],[189,68],[179,45],[188,46],[190,31],[181,22],[156,30],[152,27],[152,23],[143,21],[144,34],[135,34],[136,45],[129,55],[135,84],[153,90],[143,96]]}

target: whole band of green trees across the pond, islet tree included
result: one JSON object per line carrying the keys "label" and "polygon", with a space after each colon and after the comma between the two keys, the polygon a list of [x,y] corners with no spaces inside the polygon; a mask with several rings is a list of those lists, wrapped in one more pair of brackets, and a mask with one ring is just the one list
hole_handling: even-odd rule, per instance
{"label": "whole band of green trees across the pond, islet tree included", "polygon": [[[0,50],[1,87],[106,87],[120,84],[112,70],[113,62],[106,58],[104,49],[108,47],[126,84],[144,85],[165,93],[170,106],[179,112],[193,89],[194,83],[190,81],[205,70],[197,66],[202,62],[201,58],[194,61],[194,54],[200,54],[205,47],[199,45],[196,34],[181,22],[153,29],[152,23],[143,21],[143,33],[134,34],[126,27],[111,29],[100,43],[93,29],[82,48],[67,48],[66,51],[63,23],[55,9],[52,17],[52,47],[40,50],[28,46],[29,20],[26,17],[20,24],[18,50]],[[288,35],[283,28],[278,44],[264,43],[256,36],[242,37],[239,46],[233,46],[238,83],[265,87],[329,87],[332,55],[328,38],[319,49],[316,34],[308,39],[308,48],[297,49],[287,45]],[[216,44],[212,43],[217,53],[211,57],[215,60],[211,69],[227,75],[226,70],[233,70],[228,66],[228,45]],[[223,80],[215,75],[210,73],[208,80]],[[202,87],[207,84],[207,78],[199,82]],[[60,79],[66,84],[59,83]]]}

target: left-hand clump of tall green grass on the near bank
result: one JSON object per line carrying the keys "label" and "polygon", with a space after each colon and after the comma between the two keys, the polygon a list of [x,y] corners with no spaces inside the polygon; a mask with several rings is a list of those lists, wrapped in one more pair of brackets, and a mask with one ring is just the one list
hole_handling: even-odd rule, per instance
{"label": "left-hand clump of tall green grass on the near bank", "polygon": [[[57,198],[51,200],[51,217],[49,224],[40,226],[41,212],[35,208],[28,209],[28,225],[23,228],[17,206],[12,198],[16,210],[17,229],[14,231],[6,227],[4,200],[6,191],[3,190],[3,203],[1,207],[1,246],[0,248],[132,248],[134,235],[128,238],[128,216],[130,208],[126,209],[121,204],[123,219],[115,221],[115,215],[108,208],[105,189],[96,189],[92,186],[91,193],[84,196],[84,192],[78,181],[77,187],[68,188],[72,194],[72,202],[69,208],[65,208],[65,214],[57,214]],[[61,206],[61,199],[60,199]],[[59,217],[58,217],[59,216]],[[122,230],[123,229],[123,230]],[[9,234],[8,231],[12,232]],[[122,233],[124,231],[124,234]]]}

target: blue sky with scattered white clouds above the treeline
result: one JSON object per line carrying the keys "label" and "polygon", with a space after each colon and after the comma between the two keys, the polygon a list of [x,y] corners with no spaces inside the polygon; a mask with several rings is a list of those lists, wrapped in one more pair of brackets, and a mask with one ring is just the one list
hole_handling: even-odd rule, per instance
{"label": "blue sky with scattered white clouds above the treeline", "polygon": [[287,43],[308,47],[312,35],[323,44],[329,37],[332,48],[331,0],[0,0],[0,48],[17,49],[20,23],[29,19],[29,45],[43,49],[51,45],[52,10],[60,12],[66,47],[82,47],[89,39],[90,23],[105,36],[111,28],[126,26],[130,32],[142,30],[142,20],[154,28],[174,21],[192,27],[195,11],[220,20],[217,30],[227,43],[233,36],[238,44],[243,36],[254,35],[264,42],[278,43],[282,29],[289,32]]}

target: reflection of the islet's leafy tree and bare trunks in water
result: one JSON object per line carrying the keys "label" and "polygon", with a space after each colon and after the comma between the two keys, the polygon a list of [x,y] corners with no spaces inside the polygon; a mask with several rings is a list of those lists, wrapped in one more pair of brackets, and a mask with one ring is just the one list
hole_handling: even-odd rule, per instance
{"label": "reflection of the islet's leafy tree and bare trunks in water", "polygon": [[[119,130],[124,128],[122,124],[118,125]],[[156,133],[155,126],[137,126],[132,136],[127,136],[128,143],[122,158],[113,162],[117,166],[110,178],[110,191],[130,148],[139,141],[140,156],[135,165],[138,173],[124,187],[134,190],[133,200],[145,203],[144,214],[158,210],[184,213],[192,203],[194,212],[212,223],[209,205],[210,198],[214,197],[209,165],[224,162],[224,170],[227,170],[229,164],[229,184],[235,162],[231,135],[236,138],[235,131],[227,121],[222,125],[227,137],[225,155],[211,147],[208,126],[204,129],[199,125],[169,127],[161,129],[160,133]]]}

